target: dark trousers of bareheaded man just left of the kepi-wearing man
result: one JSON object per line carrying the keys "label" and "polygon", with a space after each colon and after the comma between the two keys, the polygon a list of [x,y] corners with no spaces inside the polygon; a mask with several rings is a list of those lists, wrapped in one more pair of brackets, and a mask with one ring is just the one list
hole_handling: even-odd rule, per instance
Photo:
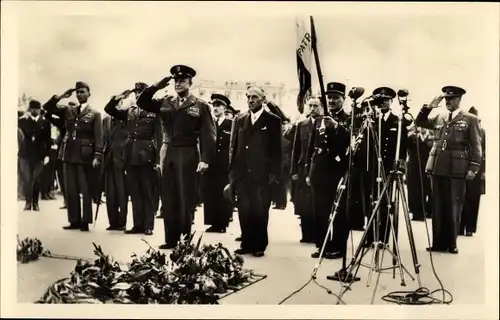
{"label": "dark trousers of bareheaded man just left of the kepi-wearing man", "polygon": [[294,206],[295,214],[300,216],[302,240],[314,241],[314,209],[311,187],[306,183],[305,168],[299,169],[298,179],[295,181]]}

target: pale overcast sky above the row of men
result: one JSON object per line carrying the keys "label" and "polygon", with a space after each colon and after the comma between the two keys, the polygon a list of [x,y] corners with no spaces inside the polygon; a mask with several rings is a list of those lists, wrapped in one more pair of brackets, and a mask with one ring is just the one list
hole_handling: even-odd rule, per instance
{"label": "pale overcast sky above the row of men", "polygon": [[[20,91],[45,100],[83,80],[91,86],[93,105],[102,108],[112,94],[135,81],[159,80],[178,63],[195,68],[197,79],[269,80],[297,87],[292,11],[187,15],[189,10],[173,12],[173,4],[169,10],[162,5],[158,11],[164,13],[154,15],[151,10],[136,10],[135,16],[103,10],[20,20]],[[488,103],[492,83],[485,81],[495,79],[491,57],[498,50],[498,32],[491,28],[498,24],[481,4],[475,11],[448,4],[448,10],[424,13],[409,6],[370,13],[366,6],[356,14],[330,5],[315,15],[325,83],[341,81],[370,92],[382,85],[408,88],[418,107],[443,85],[455,84],[468,91],[467,107],[481,110]]]}

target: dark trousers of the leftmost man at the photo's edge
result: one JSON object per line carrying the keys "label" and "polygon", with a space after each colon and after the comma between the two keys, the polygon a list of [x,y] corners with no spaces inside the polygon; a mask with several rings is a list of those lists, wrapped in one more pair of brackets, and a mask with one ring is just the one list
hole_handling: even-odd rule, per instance
{"label": "dark trousers of the leftmost man at the photo's edge", "polygon": [[38,203],[40,198],[40,180],[43,171],[43,161],[19,158],[19,166],[26,202]]}

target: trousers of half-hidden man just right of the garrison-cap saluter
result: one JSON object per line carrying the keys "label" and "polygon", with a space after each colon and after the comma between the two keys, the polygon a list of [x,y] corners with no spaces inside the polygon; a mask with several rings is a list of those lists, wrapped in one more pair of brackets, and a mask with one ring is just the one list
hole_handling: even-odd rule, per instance
{"label": "trousers of half-hidden man just right of the garrison-cap saluter", "polygon": [[106,209],[110,227],[127,226],[128,192],[126,188],[125,168],[113,163],[104,171],[104,191],[106,192]]}

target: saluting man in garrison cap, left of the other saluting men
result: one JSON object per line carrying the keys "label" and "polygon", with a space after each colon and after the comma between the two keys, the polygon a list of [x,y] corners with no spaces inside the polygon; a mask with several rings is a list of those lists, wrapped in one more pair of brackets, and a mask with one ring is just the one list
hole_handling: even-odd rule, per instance
{"label": "saluting man in garrison cap, left of the other saluting men", "polygon": [[[57,103],[76,92],[78,105],[58,106]],[[78,81],[74,89],[55,95],[43,108],[64,121],[66,135],[61,144],[64,171],[64,191],[69,225],[65,230],[89,231],[92,223],[93,182],[102,161],[103,137],[101,113],[88,103],[90,87]],[[80,203],[80,194],[82,195]]]}

